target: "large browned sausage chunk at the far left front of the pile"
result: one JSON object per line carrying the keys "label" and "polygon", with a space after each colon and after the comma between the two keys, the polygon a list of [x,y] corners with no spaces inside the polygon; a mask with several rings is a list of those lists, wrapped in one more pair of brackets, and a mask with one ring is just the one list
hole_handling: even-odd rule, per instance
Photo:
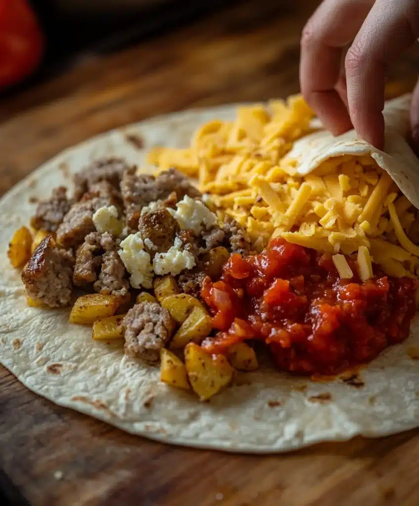
{"label": "large browned sausage chunk at the far left front of the pile", "polygon": [[73,288],[73,265],[73,256],[54,247],[49,235],[35,249],[22,271],[26,293],[51,308],[66,306]]}

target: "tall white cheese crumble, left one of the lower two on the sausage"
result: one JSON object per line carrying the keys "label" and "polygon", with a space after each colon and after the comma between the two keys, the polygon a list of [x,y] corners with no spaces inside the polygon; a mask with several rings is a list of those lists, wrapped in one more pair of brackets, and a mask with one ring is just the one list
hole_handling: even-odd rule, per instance
{"label": "tall white cheese crumble, left one of the lower two on the sausage", "polygon": [[121,242],[118,255],[121,257],[127,271],[131,274],[130,283],[134,288],[143,286],[151,288],[153,285],[153,266],[150,256],[144,251],[144,242],[140,232],[129,235]]}

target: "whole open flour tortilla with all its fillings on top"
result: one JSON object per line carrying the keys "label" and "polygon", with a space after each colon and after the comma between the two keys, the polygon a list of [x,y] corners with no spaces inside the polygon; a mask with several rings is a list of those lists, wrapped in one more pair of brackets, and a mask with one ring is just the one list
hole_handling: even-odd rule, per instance
{"label": "whole open flour tortilla with all its fillings on top", "polygon": [[[408,107],[386,105],[385,151],[318,131],[295,96],[132,126],[154,167],[118,131],[64,153],[34,176],[32,219],[33,183],[1,202],[24,284],[1,257],[2,364],[178,444],[270,452],[416,426]],[[346,383],[360,367],[362,389]]]}

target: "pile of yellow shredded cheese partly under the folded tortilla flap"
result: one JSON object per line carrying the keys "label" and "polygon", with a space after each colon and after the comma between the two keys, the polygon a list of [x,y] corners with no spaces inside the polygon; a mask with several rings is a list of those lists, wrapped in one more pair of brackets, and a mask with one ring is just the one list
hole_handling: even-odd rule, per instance
{"label": "pile of yellow shredded cheese partly under the folded tortilla flap", "polygon": [[[285,155],[310,133],[313,113],[300,96],[268,107],[239,107],[235,121],[211,121],[187,149],[155,148],[149,161],[197,178],[220,221],[234,218],[255,249],[271,237],[334,254],[341,277],[351,269],[341,254],[358,252],[362,279],[371,261],[393,276],[419,275],[417,209],[370,156],[329,158],[306,176]],[[349,269],[349,271],[348,271]]]}

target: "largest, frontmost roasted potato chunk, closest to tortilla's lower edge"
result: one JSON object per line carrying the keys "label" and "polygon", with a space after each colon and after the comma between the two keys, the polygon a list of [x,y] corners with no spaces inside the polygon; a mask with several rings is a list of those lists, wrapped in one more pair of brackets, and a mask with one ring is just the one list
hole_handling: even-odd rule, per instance
{"label": "largest, frontmost roasted potato chunk, closest to tortilla's lower edge", "polygon": [[234,373],[224,355],[210,355],[196,343],[185,347],[185,366],[189,383],[201,401],[206,401],[230,383]]}

